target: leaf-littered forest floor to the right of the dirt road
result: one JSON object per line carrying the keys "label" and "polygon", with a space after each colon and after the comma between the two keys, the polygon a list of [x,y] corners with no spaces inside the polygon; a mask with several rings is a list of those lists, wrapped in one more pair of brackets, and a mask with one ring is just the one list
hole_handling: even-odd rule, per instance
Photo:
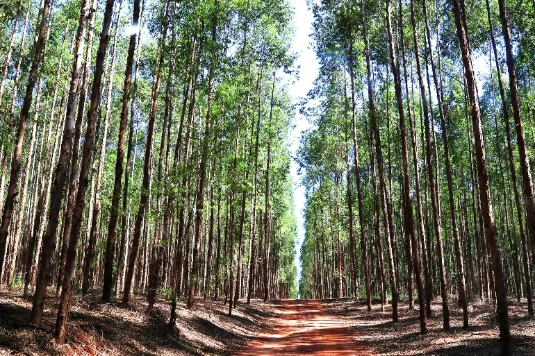
{"label": "leaf-littered forest floor to the right of the dirt road", "polygon": [[[418,300],[415,302],[418,303]],[[350,332],[354,341],[368,347],[369,355],[500,355],[500,332],[494,306],[490,303],[470,302],[470,327],[463,330],[462,309],[450,302],[451,328],[444,331],[441,300],[436,298],[431,307],[432,315],[427,318],[428,332],[423,337],[420,335],[420,314],[417,309],[409,310],[406,302],[398,305],[400,320],[397,323],[392,322],[391,305],[381,312],[378,300],[372,305],[370,314],[366,312],[365,303],[352,300],[330,300],[325,307],[331,314],[352,325]],[[535,321],[529,319],[526,303],[509,303],[509,322],[512,355],[535,355]]]}

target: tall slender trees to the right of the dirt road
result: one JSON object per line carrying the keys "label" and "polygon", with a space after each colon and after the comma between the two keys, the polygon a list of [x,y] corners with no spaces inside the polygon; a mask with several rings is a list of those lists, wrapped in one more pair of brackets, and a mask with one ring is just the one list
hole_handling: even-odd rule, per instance
{"label": "tall slender trees to the right of the dirt road", "polygon": [[533,317],[535,3],[313,1],[320,74],[302,113],[302,298],[440,296]]}

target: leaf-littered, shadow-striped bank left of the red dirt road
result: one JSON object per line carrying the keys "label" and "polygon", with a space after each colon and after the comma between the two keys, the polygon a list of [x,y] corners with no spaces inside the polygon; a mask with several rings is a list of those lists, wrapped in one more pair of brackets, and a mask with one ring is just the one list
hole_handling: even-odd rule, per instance
{"label": "leaf-littered, shadow-striped bank left of the red dirt road", "polygon": [[0,355],[143,355],[227,356],[270,325],[277,305],[252,300],[239,303],[228,316],[229,306],[197,298],[188,310],[180,301],[176,326],[167,325],[170,303],[158,300],[151,316],[147,302],[135,296],[129,307],[120,301],[105,303],[100,294],[75,295],[67,323],[67,343],[53,342],[58,298],[49,289],[41,325],[30,323],[31,298],[22,291],[0,289]]}

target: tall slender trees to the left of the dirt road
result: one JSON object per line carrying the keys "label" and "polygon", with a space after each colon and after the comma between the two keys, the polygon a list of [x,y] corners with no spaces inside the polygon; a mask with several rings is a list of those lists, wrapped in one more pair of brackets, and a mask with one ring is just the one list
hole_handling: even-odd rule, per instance
{"label": "tall slender trees to the left of the dirt road", "polygon": [[294,298],[286,1],[0,6],[1,282],[31,322],[72,294]]}

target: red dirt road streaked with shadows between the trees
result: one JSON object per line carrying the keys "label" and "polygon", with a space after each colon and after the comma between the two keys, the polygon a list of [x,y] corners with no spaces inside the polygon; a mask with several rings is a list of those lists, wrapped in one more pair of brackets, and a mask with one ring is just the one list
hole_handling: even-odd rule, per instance
{"label": "red dirt road streaked with shadows between the trees", "polygon": [[236,355],[370,355],[352,339],[349,326],[320,300],[283,300],[272,328],[258,334]]}

